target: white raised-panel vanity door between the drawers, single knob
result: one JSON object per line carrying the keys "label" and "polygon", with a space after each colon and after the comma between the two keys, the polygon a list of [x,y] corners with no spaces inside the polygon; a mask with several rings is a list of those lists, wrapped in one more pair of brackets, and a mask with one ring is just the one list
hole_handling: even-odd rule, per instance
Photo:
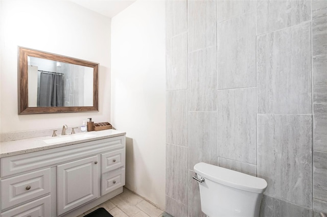
{"label": "white raised-panel vanity door between the drawers, single knob", "polygon": [[98,189],[98,156],[57,166],[57,214],[96,199]]}

